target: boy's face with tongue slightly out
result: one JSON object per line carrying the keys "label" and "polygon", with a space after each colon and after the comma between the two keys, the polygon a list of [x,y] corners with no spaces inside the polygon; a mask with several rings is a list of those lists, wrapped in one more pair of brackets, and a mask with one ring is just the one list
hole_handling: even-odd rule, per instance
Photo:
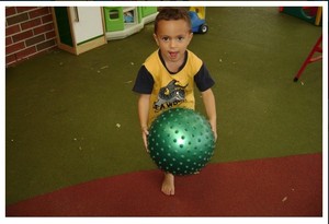
{"label": "boy's face with tongue slightly out", "polygon": [[181,62],[193,37],[188,23],[183,20],[159,21],[154,37],[166,62]]}

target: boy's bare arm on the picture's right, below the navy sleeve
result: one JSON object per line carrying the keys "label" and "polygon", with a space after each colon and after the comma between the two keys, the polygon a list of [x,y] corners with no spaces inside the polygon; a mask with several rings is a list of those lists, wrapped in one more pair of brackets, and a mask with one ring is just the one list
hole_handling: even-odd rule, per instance
{"label": "boy's bare arm on the picture's right, below the navy sleeve", "polygon": [[202,92],[202,99],[216,141],[217,140],[217,115],[216,115],[215,96],[212,89]]}

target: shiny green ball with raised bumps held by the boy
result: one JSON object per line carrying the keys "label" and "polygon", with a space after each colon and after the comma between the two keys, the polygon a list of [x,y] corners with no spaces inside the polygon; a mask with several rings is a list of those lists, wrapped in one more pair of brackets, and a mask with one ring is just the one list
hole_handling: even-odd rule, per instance
{"label": "shiny green ball with raised bumps held by the boy", "polygon": [[173,175],[200,172],[212,158],[215,149],[209,122],[186,108],[163,111],[151,123],[148,150],[157,166]]}

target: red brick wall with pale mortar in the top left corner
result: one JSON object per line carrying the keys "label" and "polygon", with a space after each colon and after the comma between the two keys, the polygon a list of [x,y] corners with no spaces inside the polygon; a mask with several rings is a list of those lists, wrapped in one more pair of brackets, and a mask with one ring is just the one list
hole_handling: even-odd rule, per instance
{"label": "red brick wall with pale mortar in the top left corner", "polygon": [[56,47],[53,16],[48,7],[5,8],[5,66]]}

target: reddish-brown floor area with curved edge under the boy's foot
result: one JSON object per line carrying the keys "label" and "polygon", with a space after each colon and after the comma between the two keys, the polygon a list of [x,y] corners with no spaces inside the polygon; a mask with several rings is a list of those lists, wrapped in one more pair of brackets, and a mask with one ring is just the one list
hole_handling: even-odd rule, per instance
{"label": "reddish-brown floor area with curved edge under the boy's foot", "polygon": [[5,208],[7,216],[321,216],[321,154],[209,164],[160,192],[159,170],[114,176]]}

